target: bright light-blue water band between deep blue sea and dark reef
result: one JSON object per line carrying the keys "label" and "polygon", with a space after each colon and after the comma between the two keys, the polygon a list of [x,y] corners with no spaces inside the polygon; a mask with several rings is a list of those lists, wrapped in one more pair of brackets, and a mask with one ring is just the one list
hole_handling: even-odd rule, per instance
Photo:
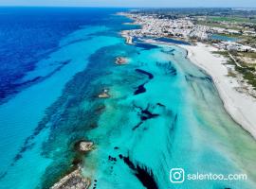
{"label": "bright light-blue water band between deep blue sea and dark reef", "polygon": [[[23,143],[27,136],[31,137],[36,132],[34,129],[37,123],[40,123],[46,108],[62,94],[65,83],[86,68],[88,57],[104,46],[121,42],[120,39],[114,37],[89,38],[88,36],[88,39],[72,43],[72,40],[76,41],[76,38],[81,39],[80,36],[84,38],[102,29],[107,30],[106,27],[92,26],[90,29],[84,28],[76,31],[75,37],[72,37],[72,34],[65,38],[60,43],[61,47],[58,51],[52,53],[46,60],[39,61],[37,69],[23,78],[29,80],[35,77],[46,77],[46,80],[31,86],[0,107],[0,125],[5,126],[0,128],[0,148],[7,148],[1,156],[1,173],[3,176],[7,174],[1,182],[1,187],[31,188],[38,184],[38,180],[51,162],[50,159],[41,155],[40,150],[48,136],[47,130],[40,133],[31,143],[24,146]],[[88,45],[90,48],[87,47]],[[60,62],[65,61],[68,63],[61,69],[58,68]],[[56,69],[60,71],[58,70],[55,74]],[[52,73],[54,77],[51,77]],[[19,108],[22,108],[22,111],[17,112]],[[13,112],[17,113],[13,114]],[[23,153],[23,151],[28,152]],[[33,170],[33,177],[30,175],[31,170]],[[13,180],[16,181],[13,182]]]}

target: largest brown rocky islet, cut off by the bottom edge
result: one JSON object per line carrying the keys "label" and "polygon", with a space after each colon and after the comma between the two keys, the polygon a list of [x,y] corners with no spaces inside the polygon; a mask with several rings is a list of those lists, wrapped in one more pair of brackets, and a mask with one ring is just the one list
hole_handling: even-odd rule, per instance
{"label": "largest brown rocky islet, cut off by the bottom edge", "polygon": [[91,184],[91,180],[84,178],[79,167],[70,174],[64,176],[63,179],[55,183],[50,189],[87,189]]}

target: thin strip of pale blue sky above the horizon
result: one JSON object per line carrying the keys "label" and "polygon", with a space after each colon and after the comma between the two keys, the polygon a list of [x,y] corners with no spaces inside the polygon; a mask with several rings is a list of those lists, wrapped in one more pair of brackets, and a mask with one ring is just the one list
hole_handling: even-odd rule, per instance
{"label": "thin strip of pale blue sky above the horizon", "polygon": [[256,8],[256,0],[0,0],[0,6]]}

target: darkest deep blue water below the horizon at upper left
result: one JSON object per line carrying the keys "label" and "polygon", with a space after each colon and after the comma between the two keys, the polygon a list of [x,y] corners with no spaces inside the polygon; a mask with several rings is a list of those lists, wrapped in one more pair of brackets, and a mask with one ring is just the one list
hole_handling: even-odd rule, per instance
{"label": "darkest deep blue water below the horizon at upper left", "polygon": [[0,104],[36,81],[21,78],[35,68],[38,60],[56,50],[64,36],[81,26],[119,25],[115,19],[105,22],[106,16],[119,10],[1,8]]}

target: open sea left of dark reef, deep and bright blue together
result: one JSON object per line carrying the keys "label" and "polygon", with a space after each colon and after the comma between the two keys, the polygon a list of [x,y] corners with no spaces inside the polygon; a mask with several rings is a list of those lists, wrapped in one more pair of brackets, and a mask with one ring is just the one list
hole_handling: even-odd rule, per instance
{"label": "open sea left of dark reef, deep and bright blue together", "polygon": [[120,10],[0,9],[0,188],[39,184],[51,162],[41,155],[46,110],[92,54],[123,41],[119,29],[133,26]]}

